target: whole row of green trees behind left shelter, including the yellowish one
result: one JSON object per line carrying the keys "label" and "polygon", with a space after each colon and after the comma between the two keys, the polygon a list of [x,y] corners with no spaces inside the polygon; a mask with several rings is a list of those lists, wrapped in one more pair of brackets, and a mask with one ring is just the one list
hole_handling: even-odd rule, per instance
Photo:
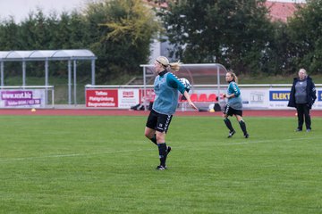
{"label": "whole row of green trees behind left shelter, including the yellowish one", "polygon": [[[140,0],[101,0],[89,2],[82,12],[53,12],[47,17],[37,9],[20,24],[3,21],[0,45],[3,50],[90,49],[98,58],[97,84],[124,77],[117,82],[123,84],[141,73],[140,64],[148,62],[149,45],[158,29],[155,13]],[[43,75],[42,63],[28,66],[33,76]],[[57,70],[51,75],[66,75],[65,67],[51,65]]]}

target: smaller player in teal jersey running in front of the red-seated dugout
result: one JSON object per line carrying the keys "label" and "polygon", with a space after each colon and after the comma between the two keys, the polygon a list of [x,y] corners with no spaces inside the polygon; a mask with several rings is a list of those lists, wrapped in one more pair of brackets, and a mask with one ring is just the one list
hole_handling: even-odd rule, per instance
{"label": "smaller player in teal jersey running in front of the red-seated dugout", "polygon": [[239,87],[237,86],[238,78],[233,73],[233,71],[228,71],[225,75],[225,80],[229,84],[227,89],[227,94],[223,95],[225,98],[228,99],[228,103],[225,106],[225,110],[223,112],[223,118],[225,121],[226,127],[229,129],[229,137],[232,137],[236,131],[233,129],[233,125],[231,121],[228,119],[228,116],[236,116],[236,119],[238,120],[242,132],[245,138],[249,138],[249,134],[246,130],[246,124],[242,120],[242,97],[241,97],[241,91]]}

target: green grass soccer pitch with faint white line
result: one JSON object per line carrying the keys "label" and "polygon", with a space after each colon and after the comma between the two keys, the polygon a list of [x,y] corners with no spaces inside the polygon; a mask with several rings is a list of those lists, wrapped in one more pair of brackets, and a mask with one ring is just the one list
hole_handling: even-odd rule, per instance
{"label": "green grass soccer pitch with faint white line", "polygon": [[143,116],[0,119],[0,213],[322,213],[322,118],[174,116],[165,171]]}

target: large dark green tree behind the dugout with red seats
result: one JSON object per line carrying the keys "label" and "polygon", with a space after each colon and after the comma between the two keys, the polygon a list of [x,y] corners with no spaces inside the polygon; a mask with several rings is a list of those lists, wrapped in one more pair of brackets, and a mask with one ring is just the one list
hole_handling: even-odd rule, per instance
{"label": "large dark green tree behind the dugout with red seats", "polygon": [[272,39],[267,12],[265,0],[178,0],[160,15],[173,53],[183,62],[259,72]]}

